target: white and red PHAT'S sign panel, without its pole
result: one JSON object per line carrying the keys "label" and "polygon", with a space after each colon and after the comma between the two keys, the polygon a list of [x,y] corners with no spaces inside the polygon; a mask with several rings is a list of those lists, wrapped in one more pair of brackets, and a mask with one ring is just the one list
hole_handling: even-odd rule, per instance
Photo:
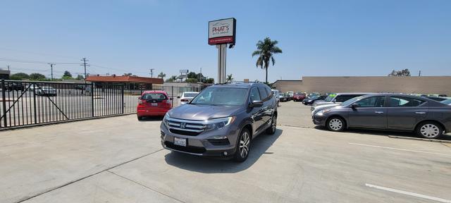
{"label": "white and red PHAT'S sign panel, without its pole", "polygon": [[209,44],[235,44],[235,18],[209,22]]}

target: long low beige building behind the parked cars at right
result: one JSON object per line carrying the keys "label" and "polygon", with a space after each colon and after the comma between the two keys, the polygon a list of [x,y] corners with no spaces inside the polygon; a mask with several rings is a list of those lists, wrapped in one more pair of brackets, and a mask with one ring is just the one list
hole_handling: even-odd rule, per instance
{"label": "long low beige building behind the parked cars at right", "polygon": [[302,80],[277,80],[273,87],[281,92],[397,92],[451,96],[451,76],[303,77]]}

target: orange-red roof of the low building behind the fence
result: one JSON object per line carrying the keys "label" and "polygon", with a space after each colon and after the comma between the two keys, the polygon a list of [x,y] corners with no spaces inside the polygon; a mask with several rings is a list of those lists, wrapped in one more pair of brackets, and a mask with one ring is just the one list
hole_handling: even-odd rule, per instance
{"label": "orange-red roof of the low building behind the fence", "polygon": [[146,78],[138,76],[99,76],[99,75],[89,75],[86,81],[91,82],[137,82],[137,83],[152,83],[152,84],[163,84],[163,79],[161,78]]}

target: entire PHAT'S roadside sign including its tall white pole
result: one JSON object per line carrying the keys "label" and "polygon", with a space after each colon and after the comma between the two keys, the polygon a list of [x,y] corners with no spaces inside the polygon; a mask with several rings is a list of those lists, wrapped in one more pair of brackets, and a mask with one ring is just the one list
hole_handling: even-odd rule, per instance
{"label": "entire PHAT'S roadside sign including its tall white pole", "polygon": [[226,18],[209,22],[209,44],[218,48],[218,80],[217,83],[226,82],[227,47],[235,46],[237,20]]}

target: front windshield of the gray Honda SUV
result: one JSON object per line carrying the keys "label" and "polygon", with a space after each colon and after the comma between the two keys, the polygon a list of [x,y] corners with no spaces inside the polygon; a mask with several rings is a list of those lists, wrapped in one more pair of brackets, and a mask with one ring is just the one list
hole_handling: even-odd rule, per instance
{"label": "front windshield of the gray Honda SUV", "polygon": [[240,106],[245,104],[247,89],[237,87],[210,87],[200,92],[190,104]]}

